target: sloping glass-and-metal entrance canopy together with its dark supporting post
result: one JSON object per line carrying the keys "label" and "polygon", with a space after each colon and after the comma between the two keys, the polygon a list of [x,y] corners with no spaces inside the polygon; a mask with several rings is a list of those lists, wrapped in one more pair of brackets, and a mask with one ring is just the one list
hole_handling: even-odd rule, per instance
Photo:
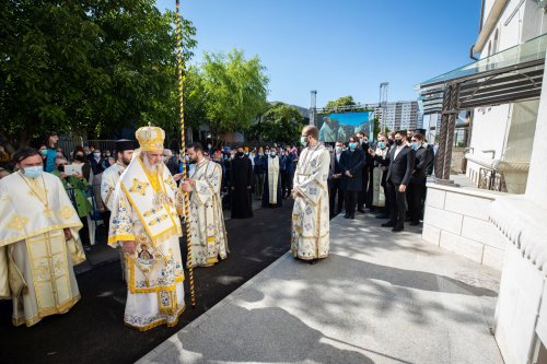
{"label": "sloping glass-and-metal entrance canopy together with its dark supporting post", "polygon": [[547,33],[418,85],[423,114],[441,114],[438,183],[450,183],[458,111],[539,97],[546,50]]}

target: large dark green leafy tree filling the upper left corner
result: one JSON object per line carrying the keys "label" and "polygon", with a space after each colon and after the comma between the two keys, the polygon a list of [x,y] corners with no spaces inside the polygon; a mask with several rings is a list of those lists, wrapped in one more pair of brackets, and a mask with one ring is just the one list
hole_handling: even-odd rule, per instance
{"label": "large dark green leafy tree filling the upper left corner", "polygon": [[[13,149],[53,129],[98,137],[172,120],[173,23],[153,0],[2,1],[0,142]],[[184,20],[185,59],[195,34]]]}

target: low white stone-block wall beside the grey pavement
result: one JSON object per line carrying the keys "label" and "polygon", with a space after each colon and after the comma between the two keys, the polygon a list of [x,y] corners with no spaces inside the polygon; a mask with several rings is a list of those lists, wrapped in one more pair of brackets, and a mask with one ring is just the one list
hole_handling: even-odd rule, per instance
{"label": "low white stone-block wall beside the grey pavement", "polygon": [[428,184],[422,239],[501,270],[507,239],[488,221],[498,196],[503,193]]}

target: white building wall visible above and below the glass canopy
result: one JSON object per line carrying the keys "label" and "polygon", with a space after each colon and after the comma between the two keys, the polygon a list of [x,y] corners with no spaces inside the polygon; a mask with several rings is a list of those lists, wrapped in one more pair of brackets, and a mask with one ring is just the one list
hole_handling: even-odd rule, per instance
{"label": "white building wall visible above and below the glass canopy", "polygon": [[[522,45],[547,32],[547,15],[534,0],[482,1],[481,26],[473,51],[480,59]],[[474,110],[467,176],[480,184],[486,168],[504,162],[507,191],[524,193],[537,119],[538,99]]]}

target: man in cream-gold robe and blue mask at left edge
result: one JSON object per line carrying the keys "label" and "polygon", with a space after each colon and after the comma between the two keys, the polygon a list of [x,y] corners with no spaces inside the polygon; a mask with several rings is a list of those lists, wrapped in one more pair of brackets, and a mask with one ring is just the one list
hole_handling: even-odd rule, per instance
{"label": "man in cream-gold robe and blue mask at left edge", "polygon": [[82,222],[59,178],[32,148],[13,155],[19,172],[0,180],[0,298],[13,300],[13,325],[67,313],[80,292],[72,266],[85,259]]}

